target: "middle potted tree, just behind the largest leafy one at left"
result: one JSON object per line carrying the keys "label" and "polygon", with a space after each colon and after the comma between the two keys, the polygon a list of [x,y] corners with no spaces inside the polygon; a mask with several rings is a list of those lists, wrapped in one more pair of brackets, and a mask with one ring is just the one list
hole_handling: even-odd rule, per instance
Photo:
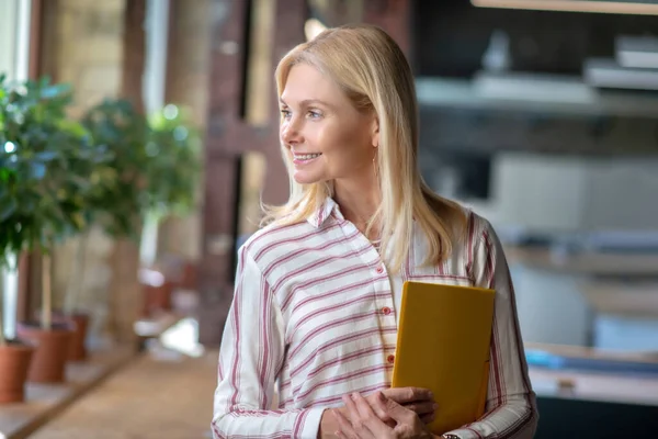
{"label": "middle potted tree, just behind the largest leafy one at left", "polygon": [[148,126],[145,117],[125,100],[104,100],[91,108],[82,119],[93,145],[107,151],[107,160],[92,172],[94,184],[84,195],[87,228],[82,230],[76,249],[72,273],[64,301],[64,316],[76,322],[77,329],[69,359],[87,358],[86,338],[89,314],[78,305],[84,282],[84,261],[92,224],[103,228],[113,238],[137,239],[140,211],[144,204],[144,178],[147,156],[145,146]]}

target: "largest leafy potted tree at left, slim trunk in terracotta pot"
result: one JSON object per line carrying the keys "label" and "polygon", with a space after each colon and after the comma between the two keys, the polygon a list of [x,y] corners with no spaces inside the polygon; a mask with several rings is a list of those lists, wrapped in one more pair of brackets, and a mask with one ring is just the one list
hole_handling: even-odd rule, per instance
{"label": "largest leafy potted tree at left, slim trunk in terracotta pot", "polygon": [[[3,82],[4,83],[4,82]],[[107,153],[90,142],[82,125],[67,119],[70,88],[49,80],[2,87],[2,169],[5,188],[0,235],[9,251],[41,251],[41,318],[20,323],[18,334],[36,345],[27,380],[60,382],[75,325],[54,320],[50,257],[56,243],[86,226],[84,198],[93,169]]]}

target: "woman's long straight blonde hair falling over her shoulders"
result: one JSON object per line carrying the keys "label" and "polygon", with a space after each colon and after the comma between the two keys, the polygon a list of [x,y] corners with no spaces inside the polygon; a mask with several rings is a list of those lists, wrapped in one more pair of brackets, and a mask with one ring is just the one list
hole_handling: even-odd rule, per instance
{"label": "woman's long straight blonde hair falling over her shoulders", "polygon": [[[418,170],[418,104],[409,64],[395,41],[372,25],[329,29],[288,52],[276,68],[279,95],[291,69],[307,64],[332,78],[360,111],[373,111],[379,122],[375,170],[382,205],[371,218],[366,235],[377,224],[381,252],[399,271],[409,254],[413,221],[429,243],[426,264],[439,263],[452,252],[453,243],[466,229],[463,210],[424,183]],[[328,196],[331,182],[299,184],[293,178],[292,155],[282,154],[291,180],[286,204],[266,206],[263,224],[281,225],[305,221]],[[395,182],[395,183],[394,183]],[[394,250],[388,254],[387,249]]]}

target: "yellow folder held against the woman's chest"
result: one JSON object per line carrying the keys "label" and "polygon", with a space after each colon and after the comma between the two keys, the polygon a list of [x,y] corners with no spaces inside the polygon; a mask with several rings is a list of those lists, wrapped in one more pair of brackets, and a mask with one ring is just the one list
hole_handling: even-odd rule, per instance
{"label": "yellow folder held against the woman's chest", "polygon": [[394,387],[430,389],[441,435],[479,419],[489,381],[494,290],[405,282]]}

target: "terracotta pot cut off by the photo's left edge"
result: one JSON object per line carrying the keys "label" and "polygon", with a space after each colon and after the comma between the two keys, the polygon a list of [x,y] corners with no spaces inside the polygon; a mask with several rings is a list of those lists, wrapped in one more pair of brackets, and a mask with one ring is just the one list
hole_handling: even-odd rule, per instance
{"label": "terracotta pot cut off by the photo's left edge", "polygon": [[0,404],[22,403],[34,347],[20,341],[0,346]]}

